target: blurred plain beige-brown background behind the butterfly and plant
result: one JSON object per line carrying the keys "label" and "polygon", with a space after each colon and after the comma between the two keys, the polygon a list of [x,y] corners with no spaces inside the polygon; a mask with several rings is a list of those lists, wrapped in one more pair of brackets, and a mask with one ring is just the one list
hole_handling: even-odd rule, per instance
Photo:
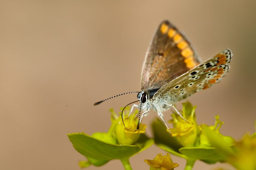
{"label": "blurred plain beige-brown background behind the butterfly and plant", "polygon": [[[107,131],[116,111],[140,90],[141,67],[158,24],[183,31],[202,60],[225,48],[231,70],[221,83],[189,98],[198,123],[225,122],[224,135],[254,132],[256,1],[0,1],[0,169],[80,169],[85,160],[67,133]],[[178,107],[181,109],[180,104]],[[168,119],[171,112],[165,113]],[[148,125],[157,117],[143,120]],[[152,146],[130,159],[134,169],[166,152]],[[172,156],[184,169],[184,160]],[[195,169],[228,165],[196,162]],[[120,161],[88,169],[123,169]],[[175,170],[176,170],[175,169]]]}

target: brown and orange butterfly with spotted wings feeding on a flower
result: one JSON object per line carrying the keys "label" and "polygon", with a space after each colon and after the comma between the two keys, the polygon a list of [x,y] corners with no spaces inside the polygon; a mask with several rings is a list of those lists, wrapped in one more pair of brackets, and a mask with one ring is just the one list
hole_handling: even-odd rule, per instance
{"label": "brown and orange butterfly with spotted wings feeding on a flower", "polygon": [[186,121],[174,104],[218,83],[229,71],[232,55],[231,50],[225,49],[201,63],[201,59],[184,35],[169,21],[163,21],[146,52],[141,73],[141,91],[119,94],[94,105],[120,95],[138,93],[140,104],[134,104],[130,111],[131,114],[134,107],[139,108],[137,129],[142,118],[150,110],[154,110],[169,130],[163,112],[173,108]]}

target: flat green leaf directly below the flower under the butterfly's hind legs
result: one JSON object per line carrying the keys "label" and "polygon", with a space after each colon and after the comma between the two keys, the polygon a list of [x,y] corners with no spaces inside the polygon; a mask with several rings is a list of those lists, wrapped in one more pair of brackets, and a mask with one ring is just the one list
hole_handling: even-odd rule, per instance
{"label": "flat green leaf directly below the flower under the butterfly's hind legs", "polygon": [[201,147],[183,147],[179,149],[180,153],[186,155],[189,159],[203,160],[207,163],[216,163],[223,161],[224,157],[220,155],[215,148],[201,148]]}

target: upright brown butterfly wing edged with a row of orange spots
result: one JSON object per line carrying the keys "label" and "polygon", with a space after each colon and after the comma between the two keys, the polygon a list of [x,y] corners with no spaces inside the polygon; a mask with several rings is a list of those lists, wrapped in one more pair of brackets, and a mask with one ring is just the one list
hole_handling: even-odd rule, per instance
{"label": "upright brown butterfly wing edged with a row of orange spots", "polygon": [[168,21],[158,27],[142,67],[141,89],[158,89],[200,62],[188,40]]}

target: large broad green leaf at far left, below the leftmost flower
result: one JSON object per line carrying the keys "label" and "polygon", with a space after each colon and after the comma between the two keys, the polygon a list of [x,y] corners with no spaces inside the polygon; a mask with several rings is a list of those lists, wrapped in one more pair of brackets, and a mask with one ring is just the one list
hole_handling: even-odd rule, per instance
{"label": "large broad green leaf at far left, below the leftmost flower", "polygon": [[82,133],[68,134],[73,147],[87,158],[93,158],[101,161],[111,159],[128,159],[141,150],[140,146],[135,145],[117,145],[104,142]]}

